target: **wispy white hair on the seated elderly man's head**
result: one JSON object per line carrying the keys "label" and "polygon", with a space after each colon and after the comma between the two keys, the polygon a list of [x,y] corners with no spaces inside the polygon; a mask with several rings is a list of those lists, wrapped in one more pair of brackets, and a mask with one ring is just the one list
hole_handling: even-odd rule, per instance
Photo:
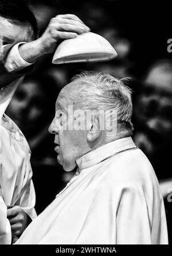
{"label": "wispy white hair on the seated elderly man's head", "polygon": [[115,110],[118,124],[132,134],[132,90],[124,85],[123,79],[100,72],[83,72],[73,77],[73,81],[81,82],[77,101],[87,109]]}

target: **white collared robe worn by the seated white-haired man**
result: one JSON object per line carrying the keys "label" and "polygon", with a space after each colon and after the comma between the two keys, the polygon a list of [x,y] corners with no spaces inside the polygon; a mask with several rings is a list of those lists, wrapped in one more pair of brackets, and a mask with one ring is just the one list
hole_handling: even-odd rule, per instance
{"label": "white collared robe worn by the seated white-haired man", "polygon": [[[78,159],[75,176],[17,244],[167,244],[158,180],[131,137]],[[49,175],[49,174],[48,174]]]}

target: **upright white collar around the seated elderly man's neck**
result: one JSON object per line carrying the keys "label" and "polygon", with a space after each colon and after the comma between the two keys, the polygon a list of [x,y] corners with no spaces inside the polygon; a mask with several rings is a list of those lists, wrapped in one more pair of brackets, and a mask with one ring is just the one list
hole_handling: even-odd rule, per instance
{"label": "upright white collar around the seated elderly man's neck", "polygon": [[76,160],[77,166],[80,170],[89,168],[96,165],[104,158],[115,154],[121,150],[126,150],[127,148],[135,147],[135,144],[131,137],[124,137],[122,139],[114,140],[105,144],[104,146],[97,148],[94,151],[88,152],[87,154],[81,156]]}

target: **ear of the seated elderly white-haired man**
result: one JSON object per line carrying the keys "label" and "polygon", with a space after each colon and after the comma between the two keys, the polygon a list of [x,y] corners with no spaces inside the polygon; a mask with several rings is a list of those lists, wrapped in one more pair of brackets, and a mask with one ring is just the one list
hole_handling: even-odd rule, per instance
{"label": "ear of the seated elderly white-haired man", "polygon": [[92,120],[91,120],[91,128],[89,129],[87,133],[87,140],[88,142],[93,142],[100,136],[100,120],[99,115],[94,113],[92,114]]}

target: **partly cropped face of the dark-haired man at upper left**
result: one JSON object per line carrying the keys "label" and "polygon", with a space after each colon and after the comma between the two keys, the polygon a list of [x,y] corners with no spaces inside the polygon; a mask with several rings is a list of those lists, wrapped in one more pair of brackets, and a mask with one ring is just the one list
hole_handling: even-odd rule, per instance
{"label": "partly cropped face of the dark-haired man at upper left", "polygon": [[32,40],[33,29],[29,23],[12,21],[0,16],[0,54],[3,45]]}

